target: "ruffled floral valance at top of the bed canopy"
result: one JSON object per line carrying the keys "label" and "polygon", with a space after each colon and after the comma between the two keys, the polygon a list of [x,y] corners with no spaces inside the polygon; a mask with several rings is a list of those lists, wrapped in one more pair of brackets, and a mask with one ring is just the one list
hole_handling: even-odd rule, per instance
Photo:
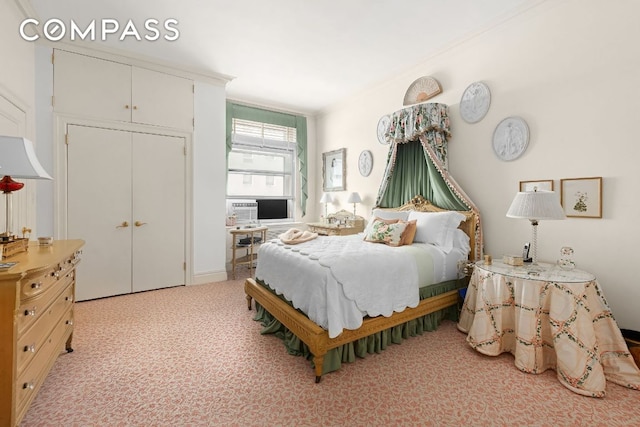
{"label": "ruffled floral valance at top of the bed canopy", "polygon": [[392,144],[421,140],[431,147],[442,167],[448,169],[447,138],[451,132],[447,105],[423,103],[396,111],[390,115],[384,136]]}

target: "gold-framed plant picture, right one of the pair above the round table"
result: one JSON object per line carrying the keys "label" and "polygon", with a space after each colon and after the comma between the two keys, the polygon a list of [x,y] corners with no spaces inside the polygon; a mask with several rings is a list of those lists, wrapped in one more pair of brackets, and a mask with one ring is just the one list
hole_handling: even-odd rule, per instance
{"label": "gold-framed plant picture, right one of the pair above the round table", "polygon": [[602,218],[602,177],[561,179],[560,203],[568,217]]}

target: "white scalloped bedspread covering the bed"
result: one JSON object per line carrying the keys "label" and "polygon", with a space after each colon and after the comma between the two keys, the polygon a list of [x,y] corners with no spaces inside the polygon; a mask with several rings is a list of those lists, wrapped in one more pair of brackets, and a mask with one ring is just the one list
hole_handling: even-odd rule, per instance
{"label": "white scalloped bedspread covering the bed", "polygon": [[298,245],[275,239],[260,247],[256,277],[334,338],[360,327],[365,315],[390,316],[418,305],[416,257],[432,263],[432,256],[413,246],[373,244],[362,235],[320,236]]}

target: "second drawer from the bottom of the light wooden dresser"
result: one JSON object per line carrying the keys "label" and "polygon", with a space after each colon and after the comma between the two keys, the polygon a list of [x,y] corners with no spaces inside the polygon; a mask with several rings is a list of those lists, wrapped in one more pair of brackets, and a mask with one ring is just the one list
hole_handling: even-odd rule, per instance
{"label": "second drawer from the bottom of the light wooden dresser", "polygon": [[[73,305],[73,283],[56,297],[50,305],[35,321],[35,323],[18,338],[16,348],[16,368],[18,375],[26,368],[29,362],[35,358],[46,342],[51,331],[58,327],[62,316]],[[68,320],[68,319],[67,319]]]}

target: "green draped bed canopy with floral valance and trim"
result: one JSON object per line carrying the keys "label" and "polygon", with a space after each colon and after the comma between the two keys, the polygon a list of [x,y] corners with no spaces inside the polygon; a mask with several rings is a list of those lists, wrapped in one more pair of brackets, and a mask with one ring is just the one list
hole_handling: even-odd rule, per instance
{"label": "green draped bed canopy with floral valance and trim", "polygon": [[480,256],[480,212],[448,172],[448,107],[422,103],[396,111],[384,136],[390,146],[376,207],[398,207],[420,194],[443,209],[473,211],[478,218],[475,253]]}

